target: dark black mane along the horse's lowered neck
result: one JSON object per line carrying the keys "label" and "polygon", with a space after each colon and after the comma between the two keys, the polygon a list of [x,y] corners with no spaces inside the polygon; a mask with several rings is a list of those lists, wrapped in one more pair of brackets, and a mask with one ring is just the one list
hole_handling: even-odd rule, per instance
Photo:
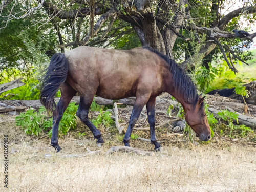
{"label": "dark black mane along the horse's lowered neck", "polygon": [[144,46],[143,48],[156,53],[168,63],[168,69],[172,73],[172,83],[174,84],[175,91],[178,92],[179,95],[184,96],[186,103],[193,103],[193,105],[196,105],[199,99],[196,86],[191,78],[181,69],[181,67],[178,66],[175,61],[170,59],[167,55],[160,53],[152,47]]}

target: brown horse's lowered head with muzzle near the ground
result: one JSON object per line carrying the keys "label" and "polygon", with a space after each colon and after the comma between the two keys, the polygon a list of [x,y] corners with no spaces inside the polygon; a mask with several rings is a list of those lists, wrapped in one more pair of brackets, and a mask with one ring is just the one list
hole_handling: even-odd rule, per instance
{"label": "brown horse's lowered head with muzzle near the ground", "polygon": [[187,124],[199,135],[202,141],[208,141],[211,136],[210,126],[204,110],[204,98],[199,96],[196,106],[192,104],[186,110],[185,120]]}

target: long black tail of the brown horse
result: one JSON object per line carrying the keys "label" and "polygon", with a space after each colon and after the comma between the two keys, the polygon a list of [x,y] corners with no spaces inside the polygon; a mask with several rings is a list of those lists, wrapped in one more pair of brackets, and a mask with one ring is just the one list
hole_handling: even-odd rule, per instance
{"label": "long black tail of the brown horse", "polygon": [[42,87],[40,101],[46,110],[51,111],[54,116],[58,114],[58,109],[54,101],[54,96],[65,82],[69,70],[69,63],[63,53],[57,53],[52,56],[50,65],[42,77]]}

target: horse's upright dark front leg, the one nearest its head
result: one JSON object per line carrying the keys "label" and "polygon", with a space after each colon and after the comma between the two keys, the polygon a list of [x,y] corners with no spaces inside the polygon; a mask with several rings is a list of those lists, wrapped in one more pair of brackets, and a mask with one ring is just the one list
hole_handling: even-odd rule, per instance
{"label": "horse's upright dark front leg, the one nearest its head", "polygon": [[155,150],[160,151],[161,145],[157,142],[155,133],[155,109],[156,109],[156,98],[150,98],[146,103],[147,119],[150,123],[150,140],[155,145]]}

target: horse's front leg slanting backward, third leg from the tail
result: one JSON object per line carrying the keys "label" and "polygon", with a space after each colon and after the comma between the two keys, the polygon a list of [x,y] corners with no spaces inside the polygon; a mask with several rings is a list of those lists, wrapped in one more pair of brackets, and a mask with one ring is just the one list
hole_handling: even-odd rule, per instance
{"label": "horse's front leg slanting backward, third leg from the tail", "polygon": [[145,97],[137,97],[136,98],[135,104],[133,106],[132,115],[130,117],[129,125],[127,127],[127,131],[123,138],[124,146],[130,146],[129,140],[132,135],[133,127],[134,127],[135,123],[137,122],[137,120],[140,116],[140,113],[141,113],[143,107],[145,106],[145,104],[147,103],[147,101],[148,101],[148,98],[145,98]]}

